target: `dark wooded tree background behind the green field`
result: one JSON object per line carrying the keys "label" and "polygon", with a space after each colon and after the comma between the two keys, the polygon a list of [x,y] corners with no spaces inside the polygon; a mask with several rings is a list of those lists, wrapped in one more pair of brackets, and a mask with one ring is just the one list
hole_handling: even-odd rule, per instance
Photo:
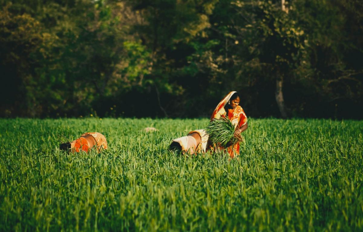
{"label": "dark wooded tree background behind the green field", "polygon": [[0,0],[1,117],[359,118],[363,2]]}

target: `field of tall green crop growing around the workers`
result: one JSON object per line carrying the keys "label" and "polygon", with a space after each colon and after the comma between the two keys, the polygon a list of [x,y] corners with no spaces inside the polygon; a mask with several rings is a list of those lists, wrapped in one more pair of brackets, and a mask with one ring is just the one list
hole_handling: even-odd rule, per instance
{"label": "field of tall green crop growing around the workers", "polygon": [[[0,119],[0,230],[363,231],[363,121],[250,118],[238,159],[168,151],[207,125]],[[108,150],[58,149],[93,131]]]}

